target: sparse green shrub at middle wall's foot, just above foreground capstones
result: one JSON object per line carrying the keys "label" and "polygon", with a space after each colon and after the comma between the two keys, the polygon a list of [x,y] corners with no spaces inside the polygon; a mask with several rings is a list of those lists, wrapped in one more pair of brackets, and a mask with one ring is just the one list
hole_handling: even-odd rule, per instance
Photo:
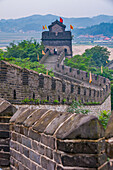
{"label": "sparse green shrub at middle wall's foot, just above foreground capstones", "polygon": [[73,101],[71,106],[67,109],[68,112],[71,113],[77,113],[77,114],[88,114],[89,110],[83,108],[84,105],[82,105],[81,101]]}

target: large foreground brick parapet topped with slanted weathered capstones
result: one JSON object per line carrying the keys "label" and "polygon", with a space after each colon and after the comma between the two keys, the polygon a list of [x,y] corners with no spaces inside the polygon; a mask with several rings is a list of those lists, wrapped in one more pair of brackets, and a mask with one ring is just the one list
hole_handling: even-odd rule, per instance
{"label": "large foreground brick parapet topped with slanted weathered capstones", "polygon": [[26,108],[10,122],[12,170],[109,169],[105,132],[94,116]]}

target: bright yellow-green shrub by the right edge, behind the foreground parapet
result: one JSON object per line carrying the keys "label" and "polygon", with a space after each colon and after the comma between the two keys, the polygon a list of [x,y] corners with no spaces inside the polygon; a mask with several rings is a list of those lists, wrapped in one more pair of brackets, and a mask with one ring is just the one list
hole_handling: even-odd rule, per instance
{"label": "bright yellow-green shrub by the right edge, behind the foreground parapet", "polygon": [[101,124],[103,125],[104,129],[106,129],[108,120],[110,118],[110,111],[103,110],[100,112],[98,119],[100,120]]}

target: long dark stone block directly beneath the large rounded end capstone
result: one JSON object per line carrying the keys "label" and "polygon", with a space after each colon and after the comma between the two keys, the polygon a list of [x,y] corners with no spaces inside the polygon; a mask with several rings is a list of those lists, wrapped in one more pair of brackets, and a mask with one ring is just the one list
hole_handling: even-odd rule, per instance
{"label": "long dark stone block directly beneath the large rounded end capstone", "polygon": [[105,149],[105,140],[57,140],[57,149],[66,153],[99,154]]}

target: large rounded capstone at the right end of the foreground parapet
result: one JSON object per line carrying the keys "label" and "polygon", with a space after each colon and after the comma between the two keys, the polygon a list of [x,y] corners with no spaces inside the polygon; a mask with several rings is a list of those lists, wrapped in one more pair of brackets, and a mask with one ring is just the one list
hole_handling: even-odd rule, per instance
{"label": "large rounded capstone at the right end of the foreground parapet", "polygon": [[99,139],[104,128],[93,115],[74,114],[56,132],[59,139]]}

